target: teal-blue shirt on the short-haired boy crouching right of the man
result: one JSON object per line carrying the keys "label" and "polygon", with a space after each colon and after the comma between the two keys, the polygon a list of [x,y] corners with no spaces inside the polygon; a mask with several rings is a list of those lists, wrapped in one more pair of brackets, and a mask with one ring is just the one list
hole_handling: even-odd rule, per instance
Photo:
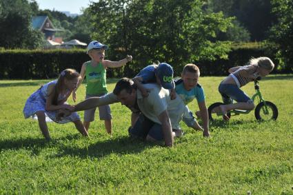
{"label": "teal-blue shirt on the short-haired boy crouching right of the man", "polygon": [[192,102],[194,99],[196,99],[198,103],[205,101],[205,92],[199,83],[188,91],[184,88],[183,80],[178,79],[175,81],[175,91],[181,97],[185,105],[188,105],[188,103]]}

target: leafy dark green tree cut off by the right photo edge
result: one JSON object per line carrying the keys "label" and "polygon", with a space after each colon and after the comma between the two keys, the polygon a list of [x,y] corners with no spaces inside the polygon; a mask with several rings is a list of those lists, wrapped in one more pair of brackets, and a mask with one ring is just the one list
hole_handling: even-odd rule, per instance
{"label": "leafy dark green tree cut off by the right photo edge", "polygon": [[293,4],[290,0],[272,0],[272,5],[278,21],[270,30],[270,41],[276,45],[281,68],[293,72]]}

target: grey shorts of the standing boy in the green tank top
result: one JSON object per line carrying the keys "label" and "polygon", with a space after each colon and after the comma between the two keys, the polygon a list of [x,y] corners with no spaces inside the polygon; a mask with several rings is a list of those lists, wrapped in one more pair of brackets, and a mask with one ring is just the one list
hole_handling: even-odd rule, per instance
{"label": "grey shorts of the standing boy in the green tank top", "polygon": [[[86,94],[85,99],[89,99],[91,97],[100,97],[100,96],[104,96],[104,95],[105,94],[98,94],[98,95]],[[90,110],[85,110],[83,120],[85,122],[94,121],[94,113],[96,112],[96,109],[97,109],[97,107],[94,107],[94,108],[92,108]],[[109,105],[99,106],[99,116],[100,116],[100,120],[111,120],[112,115],[111,115],[110,106]]]}

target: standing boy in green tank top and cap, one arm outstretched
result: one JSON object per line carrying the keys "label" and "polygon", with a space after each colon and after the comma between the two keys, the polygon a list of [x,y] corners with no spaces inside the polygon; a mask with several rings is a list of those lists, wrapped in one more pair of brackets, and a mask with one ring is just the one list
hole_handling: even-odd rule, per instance
{"label": "standing boy in green tank top and cap, one arm outstretched", "polygon": [[[83,63],[81,67],[81,79],[77,85],[77,89],[83,82],[86,76],[86,91],[85,99],[94,96],[103,96],[108,93],[106,85],[106,70],[107,68],[119,68],[129,61],[132,61],[132,56],[127,56],[125,59],[120,61],[109,61],[104,60],[105,50],[108,49],[107,45],[103,45],[98,41],[92,41],[88,44],[87,53],[92,59]],[[72,92],[73,100],[76,100],[76,90]],[[94,112],[96,108],[91,110],[85,110],[83,125],[88,131],[90,127],[90,122],[94,121]],[[109,105],[103,105],[99,107],[100,120],[105,121],[105,129],[112,136],[112,123],[111,123],[111,111]]]}

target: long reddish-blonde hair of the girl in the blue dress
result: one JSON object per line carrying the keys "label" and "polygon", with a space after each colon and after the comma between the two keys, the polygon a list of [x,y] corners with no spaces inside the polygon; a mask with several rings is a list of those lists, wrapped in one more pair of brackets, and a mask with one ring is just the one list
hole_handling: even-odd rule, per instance
{"label": "long reddish-blonde hair of the girl in the blue dress", "polygon": [[64,79],[66,80],[73,80],[73,79],[76,79],[78,77],[80,77],[81,75],[79,74],[79,72],[77,72],[76,70],[74,69],[65,69],[63,70],[59,77],[58,77],[58,80],[57,80],[57,83],[55,85],[55,90],[53,91],[54,92],[54,97],[53,97],[53,100],[52,100],[52,103],[54,105],[58,105],[58,96],[62,90],[62,85],[64,85]]}

